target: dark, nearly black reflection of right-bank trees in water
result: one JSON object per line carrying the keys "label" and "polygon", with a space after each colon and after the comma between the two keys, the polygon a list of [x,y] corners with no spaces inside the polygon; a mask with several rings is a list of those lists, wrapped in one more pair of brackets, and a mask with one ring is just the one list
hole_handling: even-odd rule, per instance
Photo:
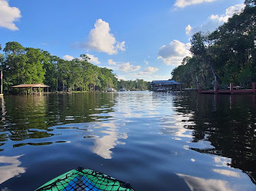
{"label": "dark, nearly black reflection of right-bank trees in water", "polygon": [[254,95],[197,95],[176,97],[176,111],[193,111],[190,120],[192,141],[210,141],[214,149],[194,151],[231,158],[231,167],[239,168],[256,180],[256,105]]}

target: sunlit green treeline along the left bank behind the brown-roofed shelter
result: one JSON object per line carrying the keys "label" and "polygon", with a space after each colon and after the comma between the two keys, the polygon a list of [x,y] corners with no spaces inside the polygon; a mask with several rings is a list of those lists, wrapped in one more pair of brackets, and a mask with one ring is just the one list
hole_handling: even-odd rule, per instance
{"label": "sunlit green treeline along the left bank behind the brown-roofed shelter", "polygon": [[[0,44],[0,50],[2,50]],[[81,54],[74,60],[63,60],[48,51],[22,47],[8,42],[0,53],[4,92],[17,92],[11,86],[44,83],[51,91],[105,91],[107,88],[147,89],[143,79],[120,82],[113,70],[95,66],[90,58]],[[127,84],[127,86],[126,86]]]}

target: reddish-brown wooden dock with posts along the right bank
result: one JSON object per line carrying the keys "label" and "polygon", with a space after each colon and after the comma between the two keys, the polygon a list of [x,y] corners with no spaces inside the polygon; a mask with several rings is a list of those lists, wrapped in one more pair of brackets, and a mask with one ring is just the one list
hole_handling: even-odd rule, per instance
{"label": "reddish-brown wooden dock with posts along the right bank", "polygon": [[234,89],[233,83],[230,83],[229,90],[218,89],[217,83],[215,83],[215,90],[202,90],[200,85],[198,88],[199,93],[222,93],[222,94],[255,94],[255,83],[252,83],[252,89]]}

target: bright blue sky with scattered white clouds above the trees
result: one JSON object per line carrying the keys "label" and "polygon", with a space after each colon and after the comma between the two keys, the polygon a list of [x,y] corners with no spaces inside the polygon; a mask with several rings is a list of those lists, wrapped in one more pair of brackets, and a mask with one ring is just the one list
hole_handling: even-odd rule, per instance
{"label": "bright blue sky with scattered white clouds above the trees", "polygon": [[87,53],[120,79],[171,78],[189,38],[213,31],[244,0],[0,0],[0,44],[48,50],[71,60]]}

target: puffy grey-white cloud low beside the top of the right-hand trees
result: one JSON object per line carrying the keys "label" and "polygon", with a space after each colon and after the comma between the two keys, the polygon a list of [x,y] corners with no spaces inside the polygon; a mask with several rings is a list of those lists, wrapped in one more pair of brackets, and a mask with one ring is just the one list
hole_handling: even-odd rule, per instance
{"label": "puffy grey-white cloud low beside the top of the right-hand trees", "polygon": [[173,40],[168,45],[160,47],[157,59],[162,59],[163,63],[171,66],[179,66],[184,57],[191,57],[189,47],[191,45],[183,44],[179,40]]}

